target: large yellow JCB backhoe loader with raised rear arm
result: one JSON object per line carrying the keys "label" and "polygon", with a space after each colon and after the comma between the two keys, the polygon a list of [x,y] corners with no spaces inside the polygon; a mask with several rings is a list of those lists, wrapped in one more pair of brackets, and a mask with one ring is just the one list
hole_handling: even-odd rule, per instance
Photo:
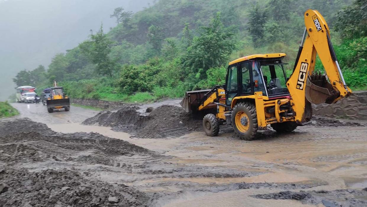
{"label": "large yellow JCB backhoe loader with raised rear arm", "polygon": [[[224,88],[186,92],[181,106],[186,112],[203,112],[204,131],[217,136],[219,125],[232,124],[243,140],[251,140],[268,125],[277,132],[291,132],[310,123],[311,103],[333,104],[348,97],[330,41],[329,27],[321,14],[304,14],[305,32],[293,73],[284,70],[285,53],[249,55],[229,63]],[[316,53],[326,74],[315,73]]]}

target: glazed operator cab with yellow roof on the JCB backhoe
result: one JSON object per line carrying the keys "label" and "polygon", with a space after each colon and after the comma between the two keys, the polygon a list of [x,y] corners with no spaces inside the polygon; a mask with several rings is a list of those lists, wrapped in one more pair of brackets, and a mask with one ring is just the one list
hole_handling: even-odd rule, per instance
{"label": "glazed operator cab with yellow roof on the JCB backhoe", "polygon": [[250,55],[229,63],[226,77],[226,105],[236,96],[262,92],[269,99],[290,96],[288,80],[282,59],[284,53]]}

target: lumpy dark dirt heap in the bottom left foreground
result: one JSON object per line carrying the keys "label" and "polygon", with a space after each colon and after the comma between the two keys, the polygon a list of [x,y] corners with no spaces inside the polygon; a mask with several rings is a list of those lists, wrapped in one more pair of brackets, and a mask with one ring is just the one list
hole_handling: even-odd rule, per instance
{"label": "lumpy dark dirt heap in the bottom left foreground", "polygon": [[132,187],[91,181],[75,170],[1,170],[0,207],[147,206],[149,197]]}

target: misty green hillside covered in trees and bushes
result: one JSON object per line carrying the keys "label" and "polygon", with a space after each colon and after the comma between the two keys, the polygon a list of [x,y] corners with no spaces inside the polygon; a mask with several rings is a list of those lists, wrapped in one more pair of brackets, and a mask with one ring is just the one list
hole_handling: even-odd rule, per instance
{"label": "misty green hillside covered in trees and bushes", "polygon": [[[136,14],[116,9],[112,18],[119,24],[109,33],[101,26],[78,47],[55,55],[47,71],[41,66],[22,71],[14,82],[44,88],[57,79],[70,97],[112,101],[181,97],[186,90],[223,84],[229,60],[241,56],[285,52],[291,69],[303,14],[312,8],[332,30],[346,82],[364,89],[366,5],[365,0],[159,0]],[[322,70],[320,63],[316,67]]]}

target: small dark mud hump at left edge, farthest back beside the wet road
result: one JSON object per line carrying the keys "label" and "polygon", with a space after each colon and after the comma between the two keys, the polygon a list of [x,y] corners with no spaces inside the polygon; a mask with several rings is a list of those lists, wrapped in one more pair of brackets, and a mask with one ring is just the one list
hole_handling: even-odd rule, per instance
{"label": "small dark mud hump at left edge, farthest back beside the wet road", "polygon": [[44,123],[31,121],[28,118],[14,119],[12,121],[0,121],[0,136],[6,136],[12,133],[39,132],[42,134],[54,134]]}

